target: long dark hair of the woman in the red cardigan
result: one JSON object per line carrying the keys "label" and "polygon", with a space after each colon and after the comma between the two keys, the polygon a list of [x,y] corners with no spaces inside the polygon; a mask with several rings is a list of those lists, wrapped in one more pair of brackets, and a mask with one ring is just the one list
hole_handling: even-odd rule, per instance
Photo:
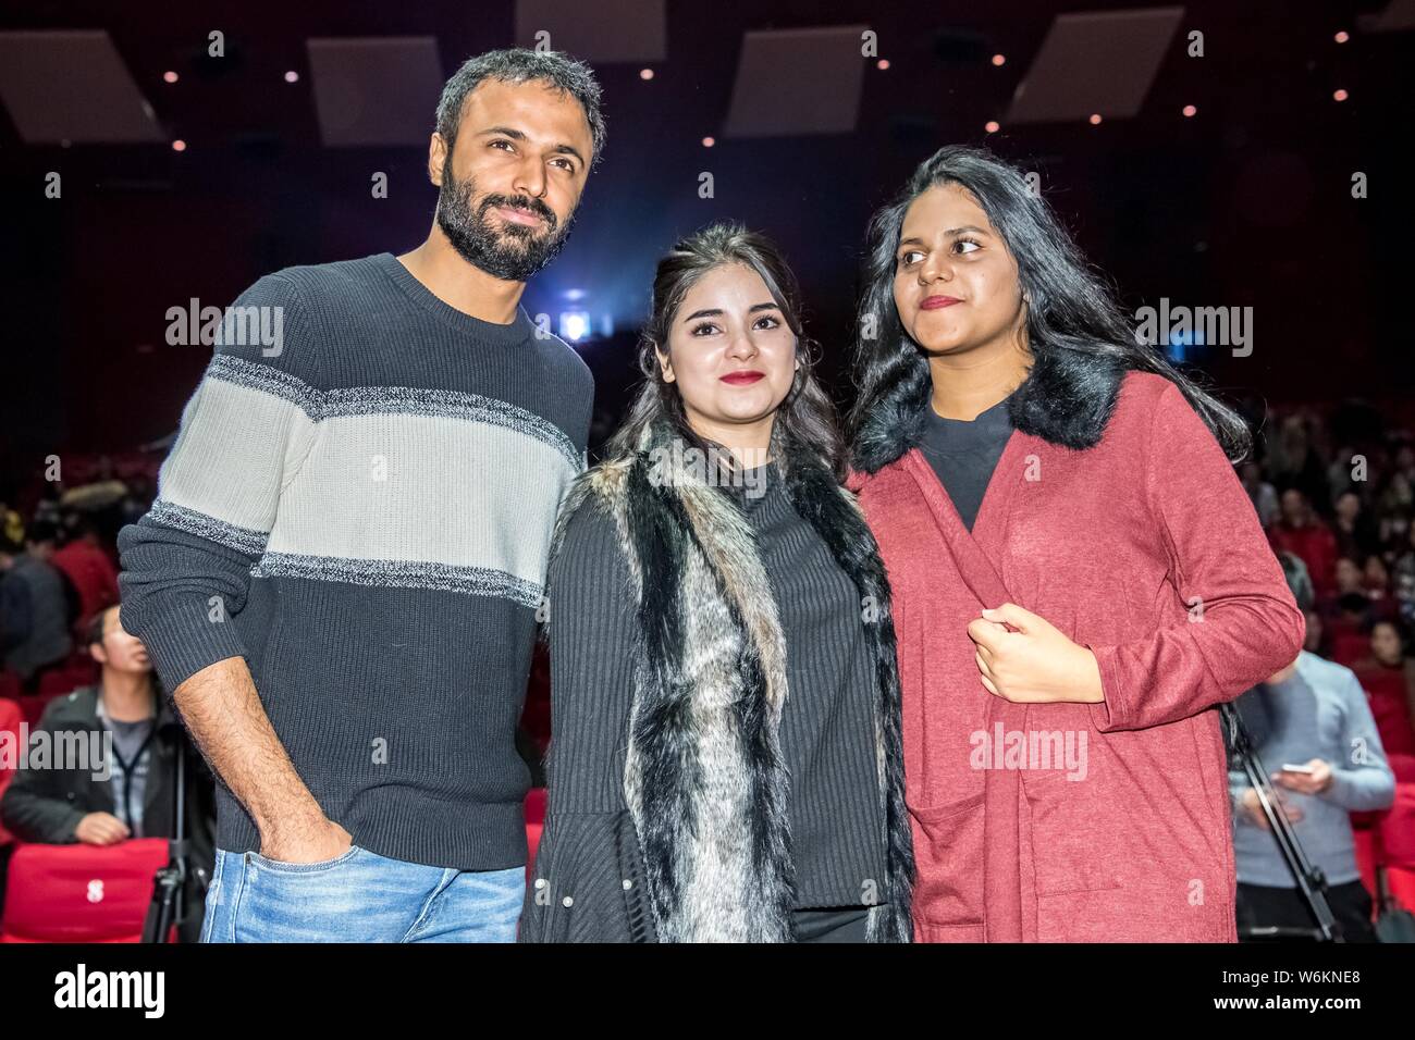
{"label": "long dark hair of the woman in the red cardigan", "polygon": [[941,184],[958,184],[972,192],[1016,259],[1017,279],[1027,297],[1027,338],[1034,358],[1070,351],[1162,375],[1184,393],[1231,460],[1248,454],[1252,436],[1247,423],[1157,351],[1136,341],[1111,287],[1087,263],[1051,207],[1030,190],[1023,173],[990,151],[965,146],[940,149],[924,160],[904,191],[870,219],[865,293],[856,323],[859,396],[850,412],[852,439],[889,388],[899,385],[908,369],[927,365],[894,306],[894,256],[904,212],[916,198]]}

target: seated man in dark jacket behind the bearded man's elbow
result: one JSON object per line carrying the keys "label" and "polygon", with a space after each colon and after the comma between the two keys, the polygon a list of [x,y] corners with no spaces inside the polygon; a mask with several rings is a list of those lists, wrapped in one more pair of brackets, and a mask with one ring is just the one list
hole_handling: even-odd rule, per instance
{"label": "seated man in dark jacket behind the bearded man's elbow", "polygon": [[[168,838],[177,741],[187,736],[153,682],[147,649],[119,624],[117,607],[93,618],[88,649],[102,665],[99,685],[57,698],[45,709],[38,730],[50,734],[51,756],[16,774],[0,799],[0,822],[20,840],[51,845]],[[35,734],[30,743],[34,754]],[[61,749],[72,751],[78,746],[100,747],[102,758],[93,761],[86,754],[86,761],[59,760]],[[215,791],[201,756],[190,744],[187,784],[191,877],[183,940],[195,941],[215,859]]]}

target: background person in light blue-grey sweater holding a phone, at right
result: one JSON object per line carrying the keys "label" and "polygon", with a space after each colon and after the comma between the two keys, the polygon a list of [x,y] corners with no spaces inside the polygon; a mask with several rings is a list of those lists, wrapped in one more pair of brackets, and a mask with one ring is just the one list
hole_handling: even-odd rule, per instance
{"label": "background person in light blue-grey sweater holding a phone, at right", "polygon": [[[1298,606],[1312,606],[1312,582],[1292,553],[1278,553]],[[1298,659],[1234,702],[1268,770],[1298,842],[1327,879],[1327,903],[1348,942],[1374,942],[1371,897],[1361,884],[1353,811],[1390,808],[1395,777],[1356,675],[1302,651]],[[1298,765],[1309,773],[1285,770]],[[1238,928],[1315,928],[1258,804],[1247,773],[1230,761]]]}

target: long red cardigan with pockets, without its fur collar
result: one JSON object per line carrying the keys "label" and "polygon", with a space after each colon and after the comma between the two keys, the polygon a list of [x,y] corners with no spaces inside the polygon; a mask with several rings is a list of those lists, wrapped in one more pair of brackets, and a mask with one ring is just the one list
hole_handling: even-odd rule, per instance
{"label": "long red cardigan with pockets, without its fur collar", "polygon": [[[852,473],[894,590],[920,941],[1237,940],[1211,709],[1295,661],[1305,623],[1180,391],[1131,372],[1112,399],[1085,450],[1017,429],[971,533],[917,447]],[[1095,652],[1104,703],[983,689],[966,625],[1005,600]],[[989,757],[998,726],[1071,740],[1084,778]]]}

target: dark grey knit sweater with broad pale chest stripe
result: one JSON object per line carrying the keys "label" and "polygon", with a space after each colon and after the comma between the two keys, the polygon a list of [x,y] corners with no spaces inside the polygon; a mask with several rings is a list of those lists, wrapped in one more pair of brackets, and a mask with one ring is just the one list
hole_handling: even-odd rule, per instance
{"label": "dark grey knit sweater with broad pale chest stripe", "polygon": [[[168,691],[245,657],[357,845],[518,866],[515,724],[589,368],[524,307],[470,317],[391,253],[269,275],[228,313],[249,307],[280,337],[224,324],[158,498],[119,536],[123,625]],[[259,849],[224,785],[218,845]]]}

